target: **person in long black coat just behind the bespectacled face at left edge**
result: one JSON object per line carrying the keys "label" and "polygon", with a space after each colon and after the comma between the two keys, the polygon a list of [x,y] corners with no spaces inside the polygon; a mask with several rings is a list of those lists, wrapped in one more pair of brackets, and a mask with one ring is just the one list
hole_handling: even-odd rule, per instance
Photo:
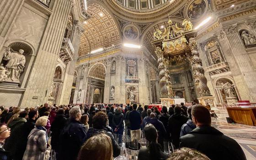
{"label": "person in long black coat just behind the bespectacled face at left edge", "polygon": [[5,140],[4,149],[9,151],[11,157],[15,156],[15,150],[17,142],[19,141],[20,132],[19,129],[24,123],[27,122],[27,112],[22,111],[19,117],[15,118],[7,127],[11,128],[11,134],[8,139]]}

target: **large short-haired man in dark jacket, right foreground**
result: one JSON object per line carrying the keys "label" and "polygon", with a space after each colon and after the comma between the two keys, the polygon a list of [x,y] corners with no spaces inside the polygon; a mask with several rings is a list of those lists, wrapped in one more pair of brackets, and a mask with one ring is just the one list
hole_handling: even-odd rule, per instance
{"label": "large short-haired man in dark jacket, right foreground", "polygon": [[246,160],[245,153],[234,139],[211,127],[211,115],[206,107],[193,106],[192,120],[197,128],[181,137],[180,147],[196,149],[211,160]]}

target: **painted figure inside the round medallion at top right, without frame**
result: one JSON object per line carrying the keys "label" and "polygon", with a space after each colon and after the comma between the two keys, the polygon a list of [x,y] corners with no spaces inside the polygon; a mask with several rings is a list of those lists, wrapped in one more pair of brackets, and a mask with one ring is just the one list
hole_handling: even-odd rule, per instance
{"label": "painted figure inside the round medallion at top right, without frame", "polygon": [[195,0],[188,10],[188,16],[192,19],[199,19],[206,10],[206,2],[204,0]]}

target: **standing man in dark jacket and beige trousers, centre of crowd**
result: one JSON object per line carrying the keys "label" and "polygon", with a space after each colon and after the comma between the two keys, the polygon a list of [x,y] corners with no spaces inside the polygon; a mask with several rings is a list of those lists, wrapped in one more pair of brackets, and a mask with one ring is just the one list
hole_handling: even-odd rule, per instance
{"label": "standing man in dark jacket and beige trousers, centre of crowd", "polygon": [[137,109],[137,104],[133,104],[133,111],[129,113],[132,141],[135,139],[140,140],[140,125],[142,123],[142,120],[141,120],[140,113],[136,109]]}

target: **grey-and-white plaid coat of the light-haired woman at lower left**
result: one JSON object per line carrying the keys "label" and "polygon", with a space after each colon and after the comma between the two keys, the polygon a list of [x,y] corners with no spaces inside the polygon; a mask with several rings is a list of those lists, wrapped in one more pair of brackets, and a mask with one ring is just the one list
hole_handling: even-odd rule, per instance
{"label": "grey-and-white plaid coat of the light-haired woman at lower left", "polygon": [[47,150],[46,129],[34,128],[27,138],[27,148],[23,160],[43,160]]}

